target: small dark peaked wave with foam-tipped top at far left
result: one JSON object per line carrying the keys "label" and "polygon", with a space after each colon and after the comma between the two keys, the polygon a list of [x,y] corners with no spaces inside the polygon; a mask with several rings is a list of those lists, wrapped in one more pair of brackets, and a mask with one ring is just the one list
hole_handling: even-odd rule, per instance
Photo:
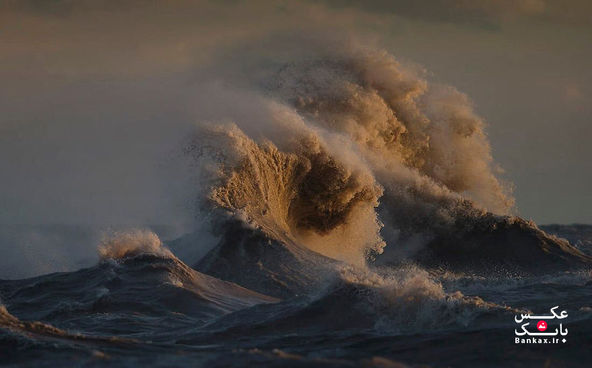
{"label": "small dark peaked wave with foam-tipped top at far left", "polygon": [[[154,331],[155,318],[163,321],[162,330],[173,320],[179,323],[177,315],[186,316],[181,324],[198,326],[242,308],[277,301],[191,269],[170,251],[163,251],[158,237],[146,231],[111,237],[101,247],[103,255],[119,258],[105,258],[76,272],[2,281],[3,300],[25,320],[58,326],[88,323],[94,333],[125,335]],[[118,324],[103,327],[97,320]]]}

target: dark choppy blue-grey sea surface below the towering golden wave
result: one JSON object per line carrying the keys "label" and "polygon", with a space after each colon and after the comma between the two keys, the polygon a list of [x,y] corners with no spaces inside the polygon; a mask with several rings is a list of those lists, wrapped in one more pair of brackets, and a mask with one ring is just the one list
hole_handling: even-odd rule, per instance
{"label": "dark choppy blue-grey sea surface below the towering golden wave", "polygon": [[[590,366],[585,266],[361,269],[260,238],[227,247],[193,267],[136,249],[75,272],[0,281],[0,365]],[[566,342],[515,343],[516,315],[554,306],[568,317],[550,330],[561,322]]]}

